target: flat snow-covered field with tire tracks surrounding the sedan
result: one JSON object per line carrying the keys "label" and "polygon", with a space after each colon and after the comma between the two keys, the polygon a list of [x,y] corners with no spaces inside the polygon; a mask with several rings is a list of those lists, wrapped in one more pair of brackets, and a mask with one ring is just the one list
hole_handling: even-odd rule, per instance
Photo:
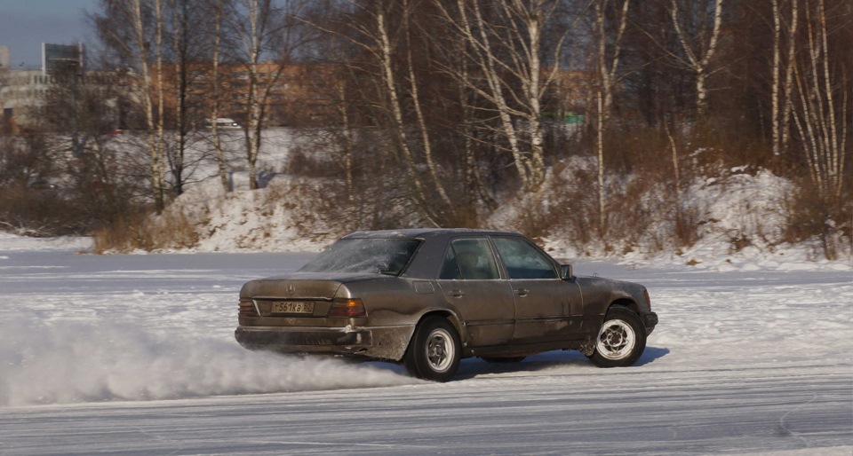
{"label": "flat snow-covered field with tire tracks surrounding the sedan", "polygon": [[85,244],[0,234],[0,454],[853,453],[849,264],[576,262],[649,287],[660,325],[637,366],[468,359],[435,384],[234,342],[243,282],[313,254]]}

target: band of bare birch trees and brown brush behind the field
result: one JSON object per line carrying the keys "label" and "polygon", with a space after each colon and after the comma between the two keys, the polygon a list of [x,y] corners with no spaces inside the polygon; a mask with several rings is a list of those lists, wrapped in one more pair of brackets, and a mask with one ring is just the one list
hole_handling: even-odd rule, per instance
{"label": "band of bare birch trees and brown brush behind the field", "polygon": [[[116,83],[66,77],[52,135],[0,139],[4,224],[51,232],[23,209],[51,172],[74,177],[72,231],[160,214],[201,163],[227,192],[235,151],[257,188],[284,124],[303,138],[272,170],[318,177],[299,205],[335,232],[481,226],[513,200],[532,236],[679,248],[707,223],[695,178],[740,167],[793,182],[784,240],[851,238],[846,0],[101,0],[90,19]],[[199,128],[219,117],[236,144]]]}

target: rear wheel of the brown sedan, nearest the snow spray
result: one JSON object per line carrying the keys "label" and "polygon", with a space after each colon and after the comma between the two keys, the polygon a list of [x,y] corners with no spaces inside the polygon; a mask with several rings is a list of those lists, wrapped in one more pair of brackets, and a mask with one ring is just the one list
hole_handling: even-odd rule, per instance
{"label": "rear wheel of the brown sedan, nearest the snow spray", "polygon": [[413,377],[429,381],[449,381],[459,368],[462,342],[456,328],[442,317],[420,322],[403,355],[403,365]]}

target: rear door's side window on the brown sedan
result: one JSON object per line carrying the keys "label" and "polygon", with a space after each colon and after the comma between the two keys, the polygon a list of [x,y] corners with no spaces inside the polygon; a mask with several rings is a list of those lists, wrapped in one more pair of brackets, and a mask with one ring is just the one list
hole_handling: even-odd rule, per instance
{"label": "rear door's side window on the brown sedan", "polygon": [[500,279],[498,264],[485,239],[460,239],[450,243],[439,279]]}

